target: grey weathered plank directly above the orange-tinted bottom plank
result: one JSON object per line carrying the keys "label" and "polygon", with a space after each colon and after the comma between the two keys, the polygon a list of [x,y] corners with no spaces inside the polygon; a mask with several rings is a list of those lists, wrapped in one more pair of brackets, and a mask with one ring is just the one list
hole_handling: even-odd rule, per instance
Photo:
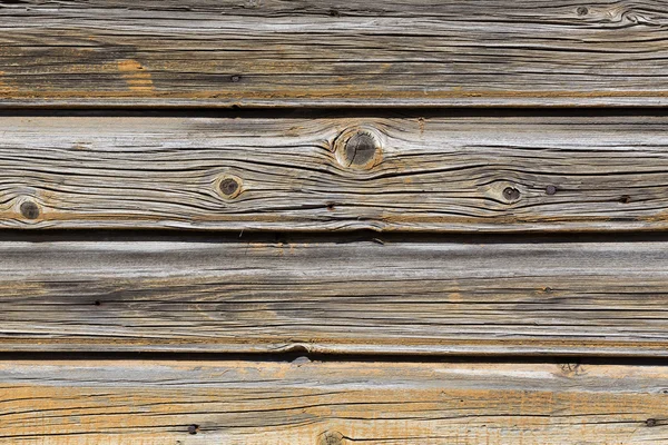
{"label": "grey weathered plank directly above the orange-tinted bottom plank", "polygon": [[667,356],[667,249],[3,241],[0,350]]}

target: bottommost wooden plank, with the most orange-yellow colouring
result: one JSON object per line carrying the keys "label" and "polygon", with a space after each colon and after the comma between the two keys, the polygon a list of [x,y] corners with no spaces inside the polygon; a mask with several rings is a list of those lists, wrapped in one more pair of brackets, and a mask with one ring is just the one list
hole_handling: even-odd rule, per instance
{"label": "bottommost wooden plank, with the most orange-yellow colouring", "polygon": [[661,444],[666,388],[660,366],[18,360],[0,364],[0,438]]}

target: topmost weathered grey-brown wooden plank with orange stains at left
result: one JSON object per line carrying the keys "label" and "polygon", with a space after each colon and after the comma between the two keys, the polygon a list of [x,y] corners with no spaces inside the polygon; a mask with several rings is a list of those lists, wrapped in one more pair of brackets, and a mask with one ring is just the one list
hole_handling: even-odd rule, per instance
{"label": "topmost weathered grey-brown wooden plank with orange stains at left", "polygon": [[666,106],[665,1],[4,1],[0,106]]}

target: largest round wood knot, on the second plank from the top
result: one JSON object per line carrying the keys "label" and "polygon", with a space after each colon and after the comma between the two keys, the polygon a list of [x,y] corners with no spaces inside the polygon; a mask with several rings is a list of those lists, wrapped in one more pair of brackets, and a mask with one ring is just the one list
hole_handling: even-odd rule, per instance
{"label": "largest round wood knot, on the second plank from the top", "polygon": [[344,131],[336,139],[334,149],[342,166],[356,169],[370,169],[382,157],[379,138],[367,129]]}

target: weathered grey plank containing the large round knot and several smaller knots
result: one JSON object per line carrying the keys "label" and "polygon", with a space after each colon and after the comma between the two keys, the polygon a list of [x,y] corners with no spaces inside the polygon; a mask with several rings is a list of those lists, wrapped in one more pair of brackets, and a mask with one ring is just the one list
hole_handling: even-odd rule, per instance
{"label": "weathered grey plank containing the large round knot and several smaller knots", "polygon": [[0,227],[668,228],[666,117],[0,117]]}

